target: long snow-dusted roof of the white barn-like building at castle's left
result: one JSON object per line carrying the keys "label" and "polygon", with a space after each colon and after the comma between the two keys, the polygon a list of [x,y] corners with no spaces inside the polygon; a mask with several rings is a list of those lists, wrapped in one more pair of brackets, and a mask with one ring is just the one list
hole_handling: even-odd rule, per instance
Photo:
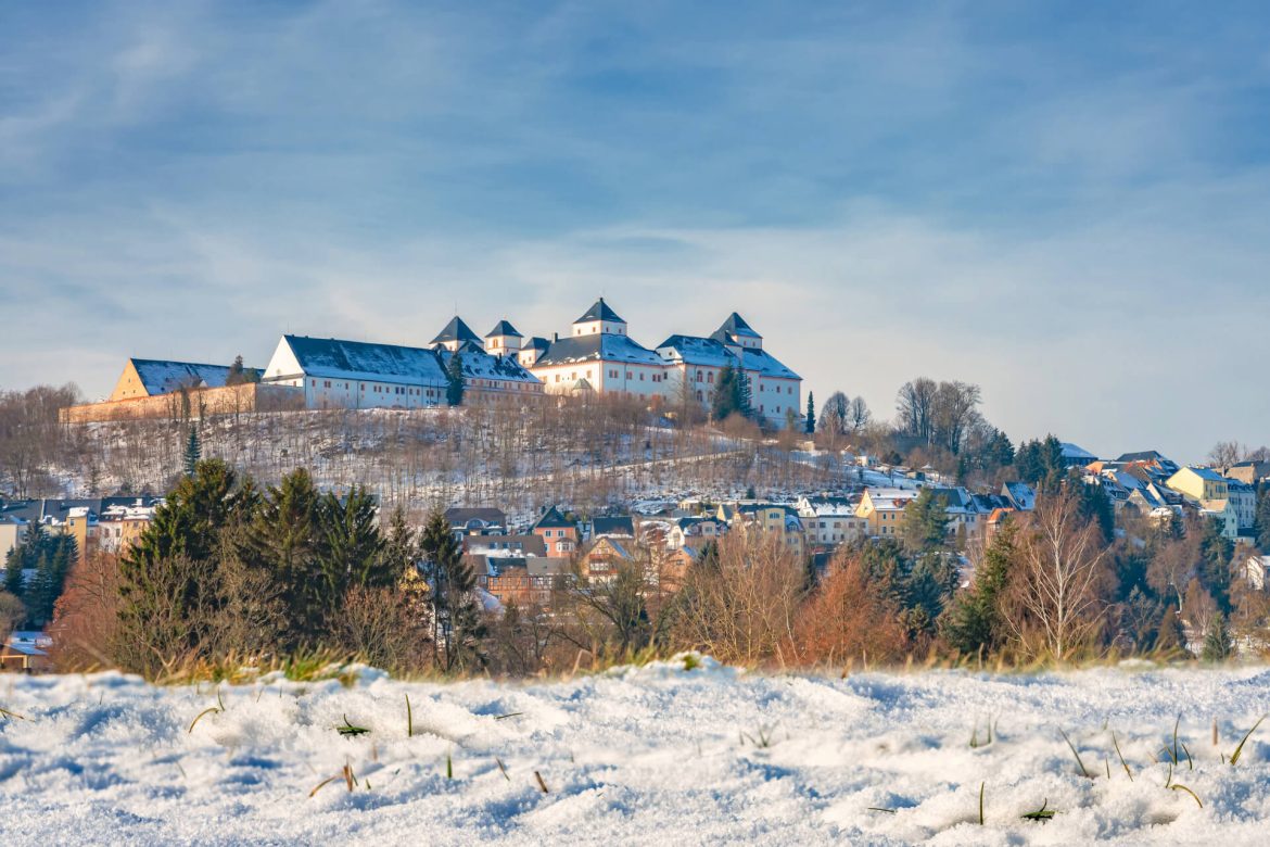
{"label": "long snow-dusted roof of the white barn-like building at castle's left", "polygon": [[377,382],[444,385],[446,372],[434,350],[396,344],[345,342],[338,338],[283,335],[306,376]]}

